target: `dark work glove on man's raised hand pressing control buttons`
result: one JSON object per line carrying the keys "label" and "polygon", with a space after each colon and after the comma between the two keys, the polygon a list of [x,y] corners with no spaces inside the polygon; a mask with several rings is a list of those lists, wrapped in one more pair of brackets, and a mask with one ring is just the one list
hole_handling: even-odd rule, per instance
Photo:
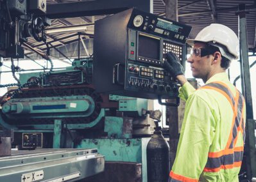
{"label": "dark work glove on man's raised hand pressing control buttons", "polygon": [[169,72],[173,77],[183,75],[183,66],[176,54],[173,52],[166,53],[166,61],[164,61],[164,69]]}

